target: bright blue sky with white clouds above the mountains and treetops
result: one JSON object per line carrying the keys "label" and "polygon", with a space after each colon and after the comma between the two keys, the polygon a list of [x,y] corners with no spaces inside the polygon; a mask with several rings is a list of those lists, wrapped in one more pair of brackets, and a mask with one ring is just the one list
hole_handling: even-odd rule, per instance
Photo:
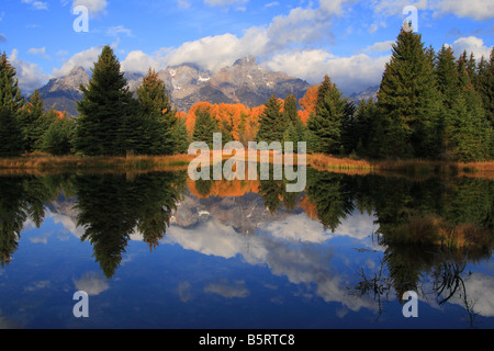
{"label": "bright blue sky with white clouds above the mountains and treetops", "polygon": [[124,71],[214,72],[254,55],[311,84],[328,75],[350,94],[380,83],[404,20],[436,50],[489,58],[494,46],[494,0],[1,0],[0,53],[24,93],[90,70],[111,45]]}

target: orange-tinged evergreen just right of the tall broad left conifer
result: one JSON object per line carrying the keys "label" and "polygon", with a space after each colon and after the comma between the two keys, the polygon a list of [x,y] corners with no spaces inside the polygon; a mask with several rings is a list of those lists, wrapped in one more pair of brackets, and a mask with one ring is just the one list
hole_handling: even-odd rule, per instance
{"label": "orange-tinged evergreen just right of the tall broad left conifer", "polygon": [[166,86],[155,70],[149,69],[137,88],[141,113],[144,122],[143,154],[170,155],[173,152],[171,128],[176,112],[171,107]]}

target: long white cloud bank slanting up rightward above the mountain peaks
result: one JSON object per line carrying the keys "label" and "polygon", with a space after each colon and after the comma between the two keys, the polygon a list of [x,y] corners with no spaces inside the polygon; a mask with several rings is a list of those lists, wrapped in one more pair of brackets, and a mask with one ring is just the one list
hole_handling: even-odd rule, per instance
{"label": "long white cloud bank slanting up rightward above the mountain peaks", "polygon": [[[274,53],[294,47],[311,47],[322,39],[333,37],[332,19],[343,13],[347,0],[322,0],[318,8],[295,8],[288,15],[276,16],[268,26],[252,26],[243,36],[222,34],[183,43],[172,49],[166,60],[169,65],[195,64],[207,70],[232,65],[236,59],[254,55],[266,59]],[[232,1],[210,1],[226,4]]]}

